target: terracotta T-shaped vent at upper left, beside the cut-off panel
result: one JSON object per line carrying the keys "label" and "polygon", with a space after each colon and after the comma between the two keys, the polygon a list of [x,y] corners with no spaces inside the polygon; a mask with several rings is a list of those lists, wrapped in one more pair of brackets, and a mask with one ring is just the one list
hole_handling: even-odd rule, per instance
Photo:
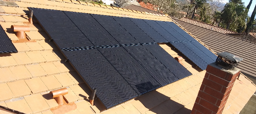
{"label": "terracotta T-shaped vent at upper left, beside the cut-off panel", "polygon": [[13,29],[15,35],[18,38],[26,38],[26,33],[25,32],[30,31],[29,26],[23,26],[23,25],[11,25],[11,28]]}

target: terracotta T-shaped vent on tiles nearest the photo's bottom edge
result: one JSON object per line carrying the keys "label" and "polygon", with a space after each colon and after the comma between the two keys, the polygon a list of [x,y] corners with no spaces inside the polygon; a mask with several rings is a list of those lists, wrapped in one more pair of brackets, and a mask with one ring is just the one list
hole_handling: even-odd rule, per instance
{"label": "terracotta T-shaped vent on tiles nearest the photo's bottom edge", "polygon": [[66,101],[63,99],[63,95],[68,94],[67,88],[62,88],[58,90],[51,91],[50,94],[53,95],[53,98],[57,101],[59,105],[64,104]]}

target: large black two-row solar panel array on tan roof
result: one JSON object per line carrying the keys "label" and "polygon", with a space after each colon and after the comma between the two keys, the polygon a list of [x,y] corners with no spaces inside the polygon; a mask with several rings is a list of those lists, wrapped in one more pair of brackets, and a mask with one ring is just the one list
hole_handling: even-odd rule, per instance
{"label": "large black two-row solar panel array on tan roof", "polygon": [[194,38],[173,36],[181,31],[170,33],[165,29],[173,25],[164,21],[30,9],[106,108],[192,75],[158,42],[208,50]]}

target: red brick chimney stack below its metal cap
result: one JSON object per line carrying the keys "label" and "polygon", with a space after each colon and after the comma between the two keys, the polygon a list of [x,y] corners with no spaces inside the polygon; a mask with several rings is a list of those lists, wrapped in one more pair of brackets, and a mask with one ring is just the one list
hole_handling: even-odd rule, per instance
{"label": "red brick chimney stack below its metal cap", "polygon": [[209,64],[191,114],[221,114],[240,70]]}

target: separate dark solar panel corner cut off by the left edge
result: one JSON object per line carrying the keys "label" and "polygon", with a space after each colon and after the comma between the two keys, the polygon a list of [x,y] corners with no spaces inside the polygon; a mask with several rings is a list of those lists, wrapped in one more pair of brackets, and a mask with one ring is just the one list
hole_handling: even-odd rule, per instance
{"label": "separate dark solar panel corner cut off by the left edge", "polygon": [[[1,25],[0,25],[1,26]],[[2,26],[0,27],[0,53],[18,52],[10,38],[5,33]]]}

